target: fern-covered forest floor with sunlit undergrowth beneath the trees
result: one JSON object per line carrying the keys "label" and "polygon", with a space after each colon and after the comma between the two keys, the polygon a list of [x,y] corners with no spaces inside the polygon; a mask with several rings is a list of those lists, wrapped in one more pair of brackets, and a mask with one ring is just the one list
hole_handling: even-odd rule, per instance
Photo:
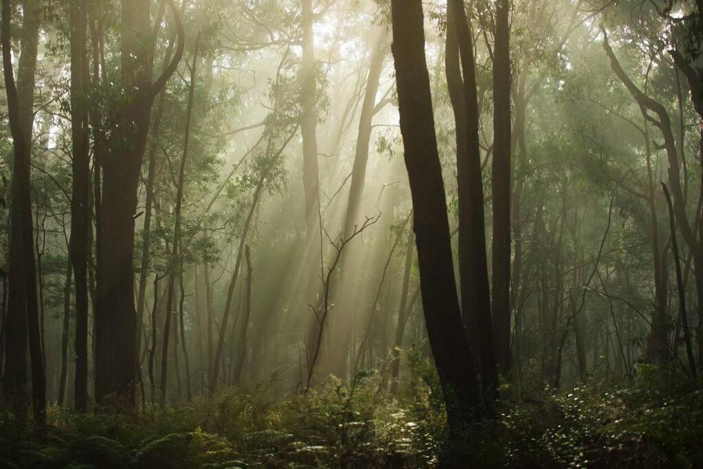
{"label": "fern-covered forest floor with sunlit undergrowth beneath the trees", "polygon": [[[378,375],[349,388],[269,396],[270,383],[138,411],[49,411],[33,428],[0,411],[0,467],[302,468],[432,467],[442,457],[444,412],[432,378],[397,397]],[[703,385],[640,365],[619,385],[520,395],[502,389],[498,418],[472,425],[463,451],[475,467],[701,467]]]}

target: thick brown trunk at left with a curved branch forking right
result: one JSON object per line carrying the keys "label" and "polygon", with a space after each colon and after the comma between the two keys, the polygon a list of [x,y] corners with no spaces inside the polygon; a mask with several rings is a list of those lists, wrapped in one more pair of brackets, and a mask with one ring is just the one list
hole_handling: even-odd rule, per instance
{"label": "thick brown trunk at left with a curved branch forking right", "polygon": [[103,190],[98,230],[98,287],[94,337],[96,401],[136,402],[136,310],[134,308],[134,214],[139,175],[149,132],[151,107],[183,55],[183,25],[167,0],[178,32],[178,46],[166,70],[152,82],[150,1],[122,0],[121,86],[127,104],[115,110],[107,152],[101,161]]}

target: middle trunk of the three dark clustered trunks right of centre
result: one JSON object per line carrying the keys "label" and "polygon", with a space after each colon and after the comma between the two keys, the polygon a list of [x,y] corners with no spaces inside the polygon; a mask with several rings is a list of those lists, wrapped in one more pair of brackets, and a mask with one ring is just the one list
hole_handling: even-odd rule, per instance
{"label": "middle trunk of the three dark clustered trunks right of centre", "polygon": [[[497,398],[498,374],[491,324],[491,291],[486,259],[479,110],[472,36],[463,0],[450,0],[447,29],[447,84],[457,129],[459,276],[464,325],[478,343],[484,404]],[[463,81],[458,72],[461,63]],[[462,90],[461,93],[459,90]]]}

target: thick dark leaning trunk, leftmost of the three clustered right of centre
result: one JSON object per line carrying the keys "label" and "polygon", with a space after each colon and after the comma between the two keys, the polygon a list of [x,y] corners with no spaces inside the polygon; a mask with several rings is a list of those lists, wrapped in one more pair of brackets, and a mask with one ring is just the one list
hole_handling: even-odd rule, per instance
{"label": "thick dark leaning trunk, leftmost of the three clustered right of centre", "polygon": [[392,0],[400,126],[413,200],[415,246],[427,335],[451,432],[474,414],[480,394],[456,293],[446,194],[434,133],[421,0]]}

